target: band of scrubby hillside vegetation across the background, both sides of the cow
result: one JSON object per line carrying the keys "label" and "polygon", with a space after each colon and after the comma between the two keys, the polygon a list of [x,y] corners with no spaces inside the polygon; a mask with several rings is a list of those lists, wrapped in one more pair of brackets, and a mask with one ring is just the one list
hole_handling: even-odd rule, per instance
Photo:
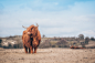
{"label": "band of scrubby hillside vegetation across the background, both sides of the cow", "polygon": [[[14,36],[8,36],[8,38],[0,38],[0,46],[4,49],[22,49],[22,36],[21,35],[14,35]],[[83,46],[86,48],[91,43],[95,43],[94,38],[86,36],[84,39],[83,34],[80,34],[78,38],[72,36],[72,38],[45,38],[43,36],[40,43],[40,49],[44,48],[70,48],[71,45],[75,46]],[[89,44],[88,44],[89,43]],[[91,45],[89,48],[95,48]]]}

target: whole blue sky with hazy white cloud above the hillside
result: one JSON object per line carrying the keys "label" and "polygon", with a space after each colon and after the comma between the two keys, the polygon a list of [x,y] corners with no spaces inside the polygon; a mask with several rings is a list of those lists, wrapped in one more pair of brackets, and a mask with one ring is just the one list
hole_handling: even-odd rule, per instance
{"label": "whole blue sky with hazy white cloud above the hillside", "polygon": [[35,22],[46,36],[95,36],[95,0],[0,0],[0,36]]}

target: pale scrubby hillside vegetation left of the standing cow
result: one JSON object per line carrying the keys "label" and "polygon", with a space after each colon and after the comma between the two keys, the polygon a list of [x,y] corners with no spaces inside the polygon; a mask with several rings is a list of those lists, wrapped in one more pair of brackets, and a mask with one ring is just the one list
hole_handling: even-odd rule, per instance
{"label": "pale scrubby hillside vegetation left of the standing cow", "polygon": [[2,42],[0,43],[4,49],[22,49],[23,43],[20,35],[1,38]]}

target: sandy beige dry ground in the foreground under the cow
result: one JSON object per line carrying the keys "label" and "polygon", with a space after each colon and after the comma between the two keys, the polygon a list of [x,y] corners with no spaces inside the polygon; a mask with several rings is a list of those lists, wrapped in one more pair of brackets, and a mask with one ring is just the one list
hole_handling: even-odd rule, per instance
{"label": "sandy beige dry ground in the foreground under the cow", "polygon": [[0,63],[95,63],[95,49],[38,49],[25,54],[23,49],[0,49]]}

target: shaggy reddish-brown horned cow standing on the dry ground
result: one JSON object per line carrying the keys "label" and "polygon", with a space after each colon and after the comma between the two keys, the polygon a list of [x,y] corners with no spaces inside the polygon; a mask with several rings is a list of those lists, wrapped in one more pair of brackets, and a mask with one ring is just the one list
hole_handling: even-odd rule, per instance
{"label": "shaggy reddish-brown horned cow standing on the dry ground", "polygon": [[29,53],[33,53],[33,49],[34,53],[36,53],[36,49],[41,42],[41,34],[38,27],[39,25],[30,25],[25,31],[23,31],[22,41],[25,53],[28,53],[28,50]]}

